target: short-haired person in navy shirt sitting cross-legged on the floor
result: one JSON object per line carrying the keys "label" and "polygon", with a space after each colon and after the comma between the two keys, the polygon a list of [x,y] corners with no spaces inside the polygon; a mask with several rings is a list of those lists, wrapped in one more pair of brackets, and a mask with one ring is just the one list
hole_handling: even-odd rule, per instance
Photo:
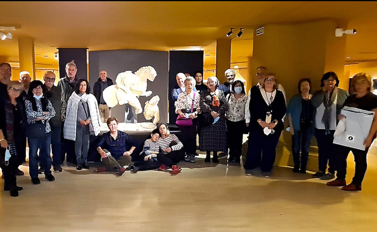
{"label": "short-haired person in navy shirt sitting cross-legged on the floor", "polygon": [[131,154],[136,148],[136,142],[126,132],[118,130],[116,118],[108,118],[106,123],[110,131],[104,133],[97,144],[97,152],[100,153],[103,164],[97,171],[111,171],[116,168],[122,175],[126,171],[123,166],[131,163]]}

